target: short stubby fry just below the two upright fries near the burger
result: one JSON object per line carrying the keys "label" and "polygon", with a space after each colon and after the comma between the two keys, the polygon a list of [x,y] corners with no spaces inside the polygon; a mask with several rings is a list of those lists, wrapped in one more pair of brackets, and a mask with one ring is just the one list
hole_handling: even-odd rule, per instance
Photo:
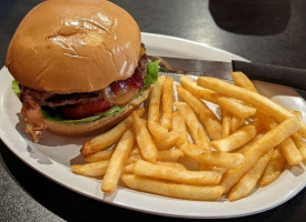
{"label": "short stubby fry just below the two upright fries near the burger", "polygon": [[155,122],[148,122],[148,128],[158,150],[169,150],[174,148],[180,138],[177,131],[168,132],[167,128]]}

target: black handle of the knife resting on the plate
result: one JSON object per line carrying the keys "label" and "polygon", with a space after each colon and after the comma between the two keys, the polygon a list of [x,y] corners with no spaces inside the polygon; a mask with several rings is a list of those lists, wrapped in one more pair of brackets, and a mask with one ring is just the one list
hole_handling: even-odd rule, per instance
{"label": "black handle of the knife resting on the plate", "polygon": [[251,80],[275,82],[306,90],[306,70],[233,60],[233,70]]}

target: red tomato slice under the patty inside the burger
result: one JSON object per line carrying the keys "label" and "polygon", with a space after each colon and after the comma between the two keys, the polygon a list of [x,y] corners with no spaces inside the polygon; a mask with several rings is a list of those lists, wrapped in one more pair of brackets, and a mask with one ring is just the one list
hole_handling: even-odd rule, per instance
{"label": "red tomato slice under the patty inside the burger", "polygon": [[67,119],[78,120],[98,114],[100,112],[105,112],[109,110],[111,107],[112,104],[108,101],[98,100],[88,103],[61,107],[61,113]]}

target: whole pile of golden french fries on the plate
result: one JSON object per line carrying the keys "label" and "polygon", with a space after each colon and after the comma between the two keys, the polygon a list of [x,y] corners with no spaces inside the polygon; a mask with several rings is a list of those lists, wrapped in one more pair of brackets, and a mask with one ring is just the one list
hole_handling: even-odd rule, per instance
{"label": "whole pile of golden french fries on the plate", "polygon": [[270,184],[286,164],[306,159],[302,113],[258,94],[244,73],[231,77],[235,84],[187,75],[174,84],[159,77],[147,113],[139,108],[86,141],[87,163],[71,165],[72,172],[101,178],[106,193],[121,180],[130,189],[199,201],[236,201]]}

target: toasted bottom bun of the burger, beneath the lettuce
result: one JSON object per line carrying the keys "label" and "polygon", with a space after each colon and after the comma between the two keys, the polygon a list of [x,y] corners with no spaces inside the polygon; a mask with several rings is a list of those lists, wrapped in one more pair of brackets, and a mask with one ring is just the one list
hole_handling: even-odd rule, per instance
{"label": "toasted bottom bun of the burger, beneath the lettuce", "polygon": [[47,129],[55,134],[70,137],[92,135],[110,129],[121,122],[134,110],[136,110],[147,98],[150,89],[144,90],[136,99],[128,103],[125,109],[112,115],[101,117],[89,122],[53,122],[46,120]]}

